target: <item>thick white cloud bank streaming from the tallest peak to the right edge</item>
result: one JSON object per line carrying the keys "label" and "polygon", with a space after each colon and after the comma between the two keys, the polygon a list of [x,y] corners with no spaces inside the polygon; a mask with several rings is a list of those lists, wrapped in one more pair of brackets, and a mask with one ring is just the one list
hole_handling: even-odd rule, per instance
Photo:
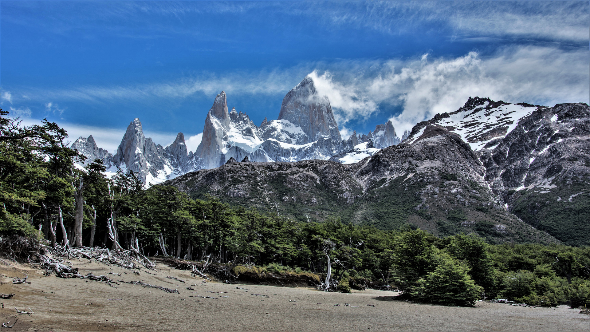
{"label": "thick white cloud bank streaming from the tallest peak to the right edge", "polygon": [[[510,103],[553,106],[589,102],[590,52],[556,47],[507,47],[493,56],[470,52],[457,58],[425,54],[409,61],[367,61],[354,64],[357,76],[335,79],[310,73],[317,90],[330,99],[339,125],[362,122],[392,106],[402,112],[391,118],[396,131],[436,113],[453,112],[468,97],[490,97]],[[352,64],[351,64],[352,66]]]}

